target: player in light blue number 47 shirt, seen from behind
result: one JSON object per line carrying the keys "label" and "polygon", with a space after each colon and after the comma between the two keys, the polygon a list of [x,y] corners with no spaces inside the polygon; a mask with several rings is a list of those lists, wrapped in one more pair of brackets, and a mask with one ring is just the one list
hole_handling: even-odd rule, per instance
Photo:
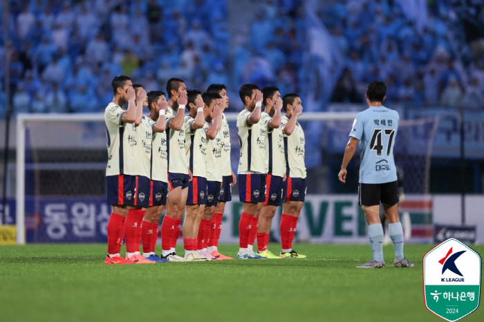
{"label": "player in light blue number 47 shirt, seen from behind", "polygon": [[346,182],[346,167],[360,142],[360,205],[368,222],[373,259],[357,268],[385,267],[383,259],[383,228],[380,222],[380,202],[389,222],[389,234],[395,248],[395,267],[413,267],[403,255],[403,229],[398,218],[398,184],[393,145],[398,131],[397,111],[382,105],[387,86],[375,80],[366,90],[368,108],[356,115],[350,140],[344,151],[343,163],[338,178]]}

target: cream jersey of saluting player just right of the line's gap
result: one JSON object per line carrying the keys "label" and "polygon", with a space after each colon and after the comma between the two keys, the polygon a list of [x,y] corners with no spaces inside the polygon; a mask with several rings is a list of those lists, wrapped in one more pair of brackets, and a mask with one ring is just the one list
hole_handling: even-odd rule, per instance
{"label": "cream jersey of saluting player just right of the line's gap", "polygon": [[261,122],[248,124],[247,119],[251,114],[252,112],[248,109],[244,109],[237,116],[237,131],[239,132],[241,146],[239,170],[237,172],[266,173],[267,126],[264,126]]}

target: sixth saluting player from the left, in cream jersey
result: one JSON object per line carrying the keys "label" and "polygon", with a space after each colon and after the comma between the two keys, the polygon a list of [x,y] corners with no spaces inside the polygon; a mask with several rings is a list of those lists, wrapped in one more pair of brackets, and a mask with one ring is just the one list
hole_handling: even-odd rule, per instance
{"label": "sixth saluting player from the left, in cream jersey", "polygon": [[[222,98],[218,93],[206,92],[202,95],[205,103],[205,123],[210,126],[207,130],[207,200],[205,211],[201,220],[198,231],[198,252],[212,260],[233,259],[227,256],[213,256],[207,251],[210,231],[212,230],[212,220],[218,198],[220,198],[220,189],[223,181],[221,172],[220,158],[222,156],[222,133],[220,131],[222,124],[222,108],[225,106],[226,97]],[[212,112],[213,111],[213,112]]]}

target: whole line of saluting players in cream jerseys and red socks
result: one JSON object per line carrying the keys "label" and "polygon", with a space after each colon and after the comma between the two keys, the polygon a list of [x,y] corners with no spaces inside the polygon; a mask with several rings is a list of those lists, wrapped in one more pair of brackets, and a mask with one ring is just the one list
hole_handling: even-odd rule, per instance
{"label": "whole line of saluting players in cream jerseys and red socks", "polygon": [[[187,91],[182,79],[172,78],[167,82],[168,101],[162,91],[146,93],[127,76],[115,77],[112,86],[113,102],[104,112],[107,201],[113,207],[105,263],[233,259],[217,249],[225,203],[232,200],[231,187],[237,182],[230,167],[230,129],[223,114],[229,104],[225,85],[212,84],[201,93]],[[306,196],[304,131],[297,122],[301,99],[296,94],[281,98],[273,86],[259,91],[254,84],[243,85],[239,95],[245,108],[237,117],[243,213],[236,257],[306,258],[292,249]],[[143,115],[145,107],[148,115]],[[283,207],[282,250],[275,256],[268,250],[268,240],[279,205]],[[162,253],[157,256],[163,210]],[[185,213],[185,255],[181,257],[175,248]],[[257,253],[253,250],[256,237]],[[125,258],[120,256],[123,240]]]}

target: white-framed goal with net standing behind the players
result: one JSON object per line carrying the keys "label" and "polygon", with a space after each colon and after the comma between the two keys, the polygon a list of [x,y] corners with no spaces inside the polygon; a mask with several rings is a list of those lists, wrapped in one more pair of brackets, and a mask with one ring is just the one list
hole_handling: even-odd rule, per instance
{"label": "white-framed goal with net standing behind the players", "polygon": [[[236,115],[226,113],[230,121],[234,172],[239,161]],[[367,240],[364,216],[357,206],[357,184],[337,182],[355,115],[355,111],[329,111],[307,112],[299,117],[306,131],[309,195],[298,224],[299,240],[313,243]],[[400,121],[394,147],[406,200],[411,201],[400,208],[418,212],[419,217],[412,218],[415,222],[412,229],[420,229],[424,235],[431,231],[431,207],[425,196],[429,193],[429,167],[438,121],[438,117]],[[105,242],[111,213],[105,198],[106,158],[102,114],[19,115],[15,172],[17,243]],[[348,167],[354,183],[359,161],[355,153]],[[234,202],[228,202],[225,209],[221,242],[236,243],[238,240],[242,209],[236,202],[237,191],[235,186]],[[339,209],[346,207],[344,202],[351,202],[351,209]],[[280,210],[278,212],[280,216]],[[344,216],[353,216],[353,221],[349,222]],[[276,222],[274,220],[272,232],[279,238]],[[339,235],[338,229],[342,232]],[[345,231],[353,231],[353,238],[348,239]]]}

